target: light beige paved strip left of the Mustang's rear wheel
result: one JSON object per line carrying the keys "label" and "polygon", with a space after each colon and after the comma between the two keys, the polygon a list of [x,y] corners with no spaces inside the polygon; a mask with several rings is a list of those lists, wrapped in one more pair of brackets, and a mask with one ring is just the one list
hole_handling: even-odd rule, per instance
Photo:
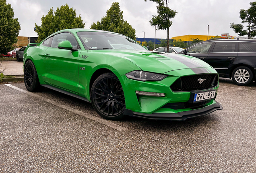
{"label": "light beige paved strip left of the Mustang's rear wheel", "polygon": [[4,70],[4,75],[23,75],[23,62],[17,61],[3,61],[2,62],[2,69]]}

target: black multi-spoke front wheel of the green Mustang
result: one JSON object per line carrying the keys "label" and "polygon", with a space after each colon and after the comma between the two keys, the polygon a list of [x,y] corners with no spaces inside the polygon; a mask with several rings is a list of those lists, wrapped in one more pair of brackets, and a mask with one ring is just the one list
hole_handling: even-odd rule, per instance
{"label": "black multi-spoke front wheel of the green Mustang", "polygon": [[101,74],[91,88],[91,103],[104,119],[120,120],[125,117],[125,99],[122,85],[115,74]]}

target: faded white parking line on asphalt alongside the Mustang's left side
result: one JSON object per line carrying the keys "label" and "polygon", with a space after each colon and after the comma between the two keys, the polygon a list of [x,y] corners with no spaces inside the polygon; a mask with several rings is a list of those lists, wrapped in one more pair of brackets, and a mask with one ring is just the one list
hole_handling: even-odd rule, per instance
{"label": "faded white parking line on asphalt alongside the Mustang's left side", "polygon": [[76,114],[81,115],[81,116],[83,116],[83,117],[86,117],[86,118],[92,119],[92,120],[94,120],[94,121],[97,121],[97,122],[99,122],[99,123],[101,123],[101,124],[103,124],[103,125],[107,125],[107,126],[109,126],[109,127],[112,127],[113,129],[116,129],[116,130],[118,130],[118,131],[127,130],[126,128],[124,128],[124,127],[122,127],[122,126],[116,125],[116,124],[114,124],[114,123],[111,123],[111,122],[109,122],[109,121],[107,121],[107,120],[105,120],[105,119],[100,119],[100,118],[98,118],[98,117],[94,117],[93,115],[89,115],[89,114],[84,113],[84,112],[82,112],[82,111],[78,111],[78,110],[73,109],[73,108],[71,108],[71,107],[68,107],[68,106],[62,105],[62,104],[60,104],[60,103],[57,103],[57,102],[55,102],[55,101],[51,101],[50,99],[46,99],[46,98],[44,98],[44,97],[41,97],[41,96],[36,95],[36,94],[34,94],[34,93],[31,93],[31,92],[29,92],[29,91],[25,91],[25,90],[20,89],[20,88],[18,88],[18,87],[14,87],[14,86],[11,85],[11,84],[5,84],[5,85],[8,86],[8,87],[11,87],[11,88],[13,88],[13,89],[16,89],[16,90],[18,90],[18,91],[21,91],[22,93],[25,93],[25,94],[27,94],[27,95],[36,97],[36,98],[41,99],[41,100],[43,100],[43,101],[45,101],[45,102],[48,102],[48,103],[51,103],[51,104],[56,105],[56,106],[58,106],[58,107],[61,107],[61,108],[63,108],[63,109],[66,109],[66,110],[68,110],[68,111],[70,111],[70,112],[73,112],[73,113],[76,113]]}

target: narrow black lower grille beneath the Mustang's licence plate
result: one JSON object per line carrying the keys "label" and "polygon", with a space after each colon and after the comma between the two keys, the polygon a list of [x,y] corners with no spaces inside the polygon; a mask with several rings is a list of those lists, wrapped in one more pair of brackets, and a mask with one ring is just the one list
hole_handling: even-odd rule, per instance
{"label": "narrow black lower grille beneath the Mustang's licence plate", "polygon": [[167,103],[166,105],[164,105],[161,108],[169,108],[169,109],[186,109],[186,108],[190,108],[190,109],[199,109],[199,108],[203,108],[205,107],[206,103],[209,103],[211,100],[209,101],[202,101],[202,102],[198,102],[198,103],[188,103],[188,102],[179,102],[179,103]]}

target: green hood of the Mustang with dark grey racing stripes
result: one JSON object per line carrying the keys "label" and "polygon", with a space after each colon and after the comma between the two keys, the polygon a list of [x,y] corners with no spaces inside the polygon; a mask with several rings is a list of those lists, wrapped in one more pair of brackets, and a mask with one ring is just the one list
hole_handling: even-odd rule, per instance
{"label": "green hood of the Mustang with dark grey racing stripes", "polygon": [[161,74],[186,68],[212,68],[209,64],[198,58],[182,54],[146,50],[114,50],[110,54],[130,60],[143,71]]}

